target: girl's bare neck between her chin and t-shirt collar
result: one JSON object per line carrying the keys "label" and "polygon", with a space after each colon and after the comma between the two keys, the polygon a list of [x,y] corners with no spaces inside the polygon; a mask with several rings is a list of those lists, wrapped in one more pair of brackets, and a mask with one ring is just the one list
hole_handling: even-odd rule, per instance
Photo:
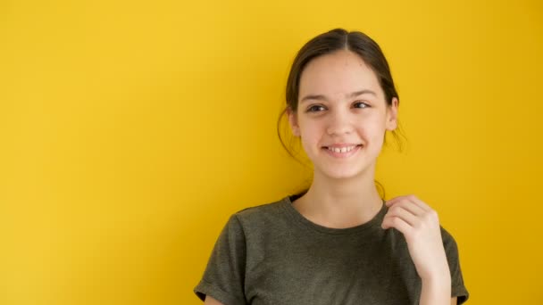
{"label": "girl's bare neck between her chin and t-shirt collar", "polygon": [[374,167],[349,178],[330,178],[315,171],[313,184],[294,202],[295,208],[324,227],[361,225],[371,220],[382,206],[373,177]]}

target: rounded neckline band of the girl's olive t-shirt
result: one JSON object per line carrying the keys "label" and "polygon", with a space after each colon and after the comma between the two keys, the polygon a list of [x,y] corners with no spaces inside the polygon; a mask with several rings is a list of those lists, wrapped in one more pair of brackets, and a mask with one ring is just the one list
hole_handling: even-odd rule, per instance
{"label": "rounded neckline band of the girl's olive t-shirt", "polygon": [[304,227],[308,227],[314,231],[321,232],[328,235],[351,235],[351,234],[360,234],[367,232],[372,227],[380,227],[385,214],[387,213],[387,205],[385,201],[382,201],[381,208],[379,212],[369,221],[364,222],[363,224],[357,225],[355,227],[346,227],[346,228],[335,228],[335,227],[324,227],[314,223],[313,221],[305,218],[298,210],[294,208],[292,204],[292,198],[297,198],[296,195],[287,196],[283,199],[283,206],[288,211],[288,214],[295,218],[297,222],[302,224]]}

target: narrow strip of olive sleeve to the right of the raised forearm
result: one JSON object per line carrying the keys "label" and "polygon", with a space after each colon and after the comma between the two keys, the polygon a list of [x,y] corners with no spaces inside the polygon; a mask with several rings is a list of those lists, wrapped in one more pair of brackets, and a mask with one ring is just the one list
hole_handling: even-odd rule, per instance
{"label": "narrow strip of olive sleeve to the right of the raised forearm", "polygon": [[448,268],[451,271],[451,297],[457,297],[457,304],[464,304],[470,297],[470,293],[468,293],[464,285],[458,247],[453,236],[444,228],[441,228],[441,237],[447,254]]}

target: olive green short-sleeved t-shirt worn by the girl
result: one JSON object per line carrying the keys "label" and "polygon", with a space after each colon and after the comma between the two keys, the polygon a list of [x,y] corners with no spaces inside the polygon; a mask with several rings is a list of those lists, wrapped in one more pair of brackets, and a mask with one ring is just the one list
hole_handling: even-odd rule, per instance
{"label": "olive green short-sleeved t-shirt worn by the girl", "polygon": [[[295,197],[240,210],[222,229],[194,292],[225,305],[418,305],[421,278],[405,237],[380,224],[388,208],[363,225],[314,224]],[[458,250],[441,228],[452,297],[468,299]]]}

